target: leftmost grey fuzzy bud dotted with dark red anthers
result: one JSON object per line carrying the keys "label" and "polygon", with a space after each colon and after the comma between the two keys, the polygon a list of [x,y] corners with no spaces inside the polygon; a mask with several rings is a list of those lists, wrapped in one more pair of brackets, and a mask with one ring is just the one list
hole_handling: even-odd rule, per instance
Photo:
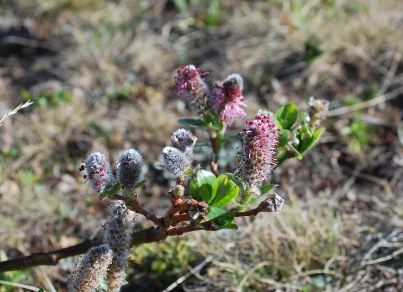
{"label": "leftmost grey fuzzy bud dotted with dark red anthers", "polygon": [[82,165],[79,170],[86,170],[85,182],[89,180],[92,183],[92,188],[102,193],[112,187],[113,175],[110,170],[109,159],[105,154],[101,152],[91,153],[87,160],[83,160],[83,163],[85,165]]}

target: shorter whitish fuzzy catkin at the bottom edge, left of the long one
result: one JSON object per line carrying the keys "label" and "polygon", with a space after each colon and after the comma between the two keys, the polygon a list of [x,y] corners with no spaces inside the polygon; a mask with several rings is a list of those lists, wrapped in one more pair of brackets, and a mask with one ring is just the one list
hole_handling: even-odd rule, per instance
{"label": "shorter whitish fuzzy catkin at the bottom edge, left of the long one", "polygon": [[112,258],[113,251],[107,244],[88,250],[67,283],[68,292],[95,291],[106,278],[106,271]]}

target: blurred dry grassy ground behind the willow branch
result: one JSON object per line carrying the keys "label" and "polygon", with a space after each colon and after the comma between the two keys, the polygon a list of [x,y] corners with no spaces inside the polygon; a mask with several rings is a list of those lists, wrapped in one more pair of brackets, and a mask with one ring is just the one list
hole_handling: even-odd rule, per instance
{"label": "blurred dry grassy ground behind the willow branch", "polygon": [[[210,84],[240,74],[249,119],[330,101],[326,133],[272,174],[280,212],[133,248],[124,291],[184,275],[173,291],[403,291],[402,54],[401,0],[0,0],[0,117],[34,101],[0,127],[0,259],[101,236],[105,206],[78,171],[93,151],[143,153],[139,201],[164,215],[173,180],[155,165],[196,118],[174,87],[194,64]],[[66,291],[77,258],[0,280]]]}

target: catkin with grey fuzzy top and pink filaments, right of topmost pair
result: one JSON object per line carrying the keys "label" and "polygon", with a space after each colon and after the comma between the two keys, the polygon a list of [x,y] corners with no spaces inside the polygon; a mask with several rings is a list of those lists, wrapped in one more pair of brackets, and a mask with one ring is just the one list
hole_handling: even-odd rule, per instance
{"label": "catkin with grey fuzzy top and pink filaments, right of topmost pair", "polygon": [[232,125],[234,118],[246,116],[241,106],[247,106],[243,101],[243,79],[238,74],[229,75],[221,86],[214,85],[212,102],[220,112],[220,119],[225,125]]}

